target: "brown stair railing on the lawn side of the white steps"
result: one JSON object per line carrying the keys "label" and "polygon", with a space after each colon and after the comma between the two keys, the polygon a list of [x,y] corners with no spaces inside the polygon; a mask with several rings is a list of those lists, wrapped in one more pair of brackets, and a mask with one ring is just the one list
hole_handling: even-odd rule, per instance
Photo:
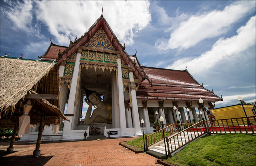
{"label": "brown stair railing on the lawn side of the white steps", "polygon": [[[169,157],[172,151],[180,149],[182,146],[187,145],[191,141],[207,133],[205,126],[206,126],[205,121],[202,120],[188,127],[187,129],[184,129],[179,133],[172,135],[170,138],[166,137],[167,151],[168,151]],[[184,135],[183,137],[181,136],[182,134]],[[169,146],[169,143],[170,143],[170,146]],[[173,144],[174,144],[174,147],[172,146]]]}

